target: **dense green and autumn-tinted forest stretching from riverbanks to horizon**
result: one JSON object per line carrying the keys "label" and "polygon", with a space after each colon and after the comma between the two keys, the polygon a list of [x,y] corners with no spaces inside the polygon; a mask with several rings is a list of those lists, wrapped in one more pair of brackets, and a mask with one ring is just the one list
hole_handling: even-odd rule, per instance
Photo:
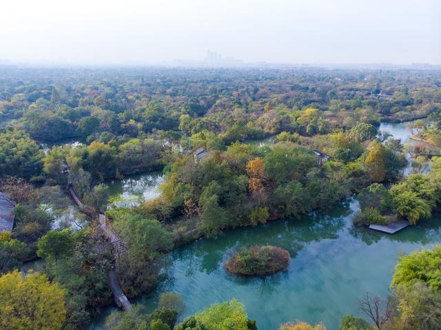
{"label": "dense green and autumn-tinted forest stretching from riverbanks to horizon", "polygon": [[[354,193],[354,225],[416,225],[441,201],[440,113],[435,70],[0,67],[0,197],[14,217],[12,232],[0,233],[0,285],[12,278],[20,296],[37,278],[57,293],[52,327],[85,329],[112,301],[109,271],[127,297],[139,296],[163,280],[168,251],[202,236],[296,221]],[[402,145],[379,132],[384,121],[412,121],[419,143]],[[252,143],[267,138],[271,143]],[[409,160],[413,174],[404,176]],[[130,207],[107,203],[108,180],[153,170],[163,173],[160,196]],[[70,194],[86,220],[56,227]],[[109,231],[121,243],[117,257]],[[262,260],[270,256],[262,251],[253,265],[267,274]],[[37,256],[45,260],[44,275],[20,279],[14,270]],[[436,329],[424,326],[440,320],[430,307],[440,304],[439,271],[429,269],[429,281],[417,269],[411,285],[401,283],[418,256],[439,263],[439,248],[400,259],[391,287],[399,313],[392,320],[386,309],[384,320],[372,320],[377,329]],[[418,293],[424,301],[414,300]],[[170,293],[162,300],[153,313],[135,307],[112,314],[108,328],[173,329],[182,299]],[[379,301],[367,296],[362,307]],[[31,316],[8,313],[18,329],[32,323]],[[175,329],[228,324],[257,329],[236,300]],[[324,328],[299,321],[280,329]],[[341,329],[372,328],[349,315]]]}

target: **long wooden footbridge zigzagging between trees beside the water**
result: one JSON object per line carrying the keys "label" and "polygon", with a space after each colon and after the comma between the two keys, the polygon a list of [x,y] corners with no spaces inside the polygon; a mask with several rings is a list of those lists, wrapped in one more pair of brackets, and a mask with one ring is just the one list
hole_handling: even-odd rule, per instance
{"label": "long wooden footbridge zigzagging between trees beside the water", "polygon": [[[84,204],[81,199],[78,197],[73,187],[69,187],[70,196],[81,209],[83,209]],[[99,226],[103,229],[105,236],[107,236],[107,240],[110,242],[112,254],[116,260],[116,258],[120,258],[121,253],[125,250],[125,245],[121,238],[119,238],[116,233],[107,225],[107,218],[101,212],[98,216]],[[116,264],[113,262],[112,266],[109,269],[109,287],[112,290],[114,300],[118,307],[124,309],[125,311],[130,311],[132,309],[132,304],[127,299],[123,290],[119,286],[118,279],[116,278]]]}

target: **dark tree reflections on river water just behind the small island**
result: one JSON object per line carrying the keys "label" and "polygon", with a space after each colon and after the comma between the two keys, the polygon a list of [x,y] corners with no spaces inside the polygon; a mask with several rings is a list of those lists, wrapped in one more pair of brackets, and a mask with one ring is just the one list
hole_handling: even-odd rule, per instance
{"label": "dark tree reflections on river water just behind the small island", "polygon": [[239,247],[271,245],[276,243],[295,258],[311,242],[338,238],[345,227],[345,218],[351,214],[351,201],[342,203],[327,214],[315,213],[300,220],[279,220],[258,228],[240,228],[227,231],[216,238],[203,238],[173,252],[174,260],[189,260],[185,273],[196,271],[212,274],[225,259]]}

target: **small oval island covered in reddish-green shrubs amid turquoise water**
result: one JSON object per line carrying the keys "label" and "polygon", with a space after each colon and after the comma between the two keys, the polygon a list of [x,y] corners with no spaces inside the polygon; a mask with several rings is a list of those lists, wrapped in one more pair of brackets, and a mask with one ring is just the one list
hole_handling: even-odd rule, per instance
{"label": "small oval island covered in reddish-green shrubs amid turquoise water", "polygon": [[286,269],[289,264],[289,252],[271,245],[254,245],[240,249],[225,262],[225,268],[236,275],[264,276]]}

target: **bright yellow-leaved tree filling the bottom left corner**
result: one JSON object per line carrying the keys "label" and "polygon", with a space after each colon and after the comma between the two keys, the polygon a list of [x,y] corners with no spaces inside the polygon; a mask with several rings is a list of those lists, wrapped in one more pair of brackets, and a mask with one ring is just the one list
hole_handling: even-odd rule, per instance
{"label": "bright yellow-leaved tree filling the bottom left corner", "polygon": [[65,320],[63,289],[38,273],[19,271],[0,277],[0,329],[61,329]]}

